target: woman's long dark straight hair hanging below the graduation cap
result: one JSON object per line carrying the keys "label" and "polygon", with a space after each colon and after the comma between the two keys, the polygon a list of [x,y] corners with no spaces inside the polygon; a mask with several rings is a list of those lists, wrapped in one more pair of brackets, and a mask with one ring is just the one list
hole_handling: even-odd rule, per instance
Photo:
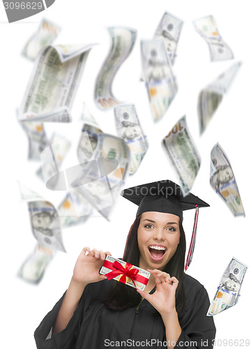
{"label": "woman's long dark straight hair hanging below the graduation cap", "polygon": [[[125,251],[123,253],[123,260],[132,264],[139,265],[139,246],[137,242],[137,230],[139,228],[141,215],[137,216],[132,223],[128,238],[126,241]],[[180,242],[176,249],[176,252],[172,256],[171,260],[165,265],[164,272],[175,276],[178,279],[178,287],[176,289],[176,311],[178,317],[181,316],[183,306],[185,304],[185,292],[183,288],[183,271],[185,262],[185,232],[181,220],[179,222],[180,230]],[[109,292],[109,296],[105,299],[105,305],[111,309],[126,309],[132,306],[138,306],[141,301],[141,295],[136,292],[135,288],[125,287],[122,283],[114,282],[112,289]]]}

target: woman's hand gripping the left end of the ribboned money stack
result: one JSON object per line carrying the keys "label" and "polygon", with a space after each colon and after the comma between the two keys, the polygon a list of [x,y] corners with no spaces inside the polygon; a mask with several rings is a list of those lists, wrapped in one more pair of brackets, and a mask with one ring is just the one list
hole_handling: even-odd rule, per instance
{"label": "woman's hand gripping the left end of the ribboned money stack", "polygon": [[96,248],[91,250],[89,247],[84,247],[77,258],[73,270],[73,281],[85,286],[88,283],[107,279],[107,276],[98,273],[107,255],[112,254],[109,251],[103,252],[98,251]]}

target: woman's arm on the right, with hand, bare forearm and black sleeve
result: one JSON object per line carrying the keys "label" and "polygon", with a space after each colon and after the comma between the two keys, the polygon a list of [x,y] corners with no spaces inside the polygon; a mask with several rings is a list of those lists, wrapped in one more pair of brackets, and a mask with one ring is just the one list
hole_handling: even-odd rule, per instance
{"label": "woman's arm on the right, with hand, bare forearm and black sleeve", "polygon": [[206,316],[209,299],[203,286],[197,292],[189,289],[183,317],[178,320],[175,308],[175,292],[178,280],[158,269],[150,271],[155,278],[156,290],[153,295],[137,290],[160,313],[165,325],[167,348],[209,349],[213,348],[215,325],[213,317]]}

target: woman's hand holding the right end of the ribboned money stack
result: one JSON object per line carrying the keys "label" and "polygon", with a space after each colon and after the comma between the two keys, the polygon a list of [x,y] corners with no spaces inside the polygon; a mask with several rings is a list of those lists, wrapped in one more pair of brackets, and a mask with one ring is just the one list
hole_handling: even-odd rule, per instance
{"label": "woman's hand holding the right end of the ribboned money stack", "polygon": [[161,272],[158,269],[147,269],[154,277],[156,289],[152,295],[149,293],[137,290],[139,295],[142,295],[162,316],[168,316],[176,312],[175,308],[175,292],[178,286],[176,277],[170,277],[166,272]]}

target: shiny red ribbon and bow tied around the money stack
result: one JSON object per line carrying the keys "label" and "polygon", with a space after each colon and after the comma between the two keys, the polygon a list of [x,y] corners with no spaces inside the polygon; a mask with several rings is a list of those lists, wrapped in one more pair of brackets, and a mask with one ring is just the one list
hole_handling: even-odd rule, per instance
{"label": "shiny red ribbon and bow tied around the money stack", "polygon": [[[138,275],[138,269],[130,269],[133,267],[133,265],[130,263],[126,263],[125,267],[123,267],[123,265],[121,265],[121,263],[119,263],[117,260],[115,260],[113,263],[105,260],[103,267],[112,269],[112,272],[105,274],[105,276],[107,276],[107,280],[114,279],[116,276],[122,274],[121,278],[119,279],[121,283],[126,283],[126,276],[132,280],[134,285],[135,281],[139,281],[144,285],[146,285],[146,283],[149,281],[149,279],[145,278],[144,276]],[[135,288],[137,288],[136,285]]]}

